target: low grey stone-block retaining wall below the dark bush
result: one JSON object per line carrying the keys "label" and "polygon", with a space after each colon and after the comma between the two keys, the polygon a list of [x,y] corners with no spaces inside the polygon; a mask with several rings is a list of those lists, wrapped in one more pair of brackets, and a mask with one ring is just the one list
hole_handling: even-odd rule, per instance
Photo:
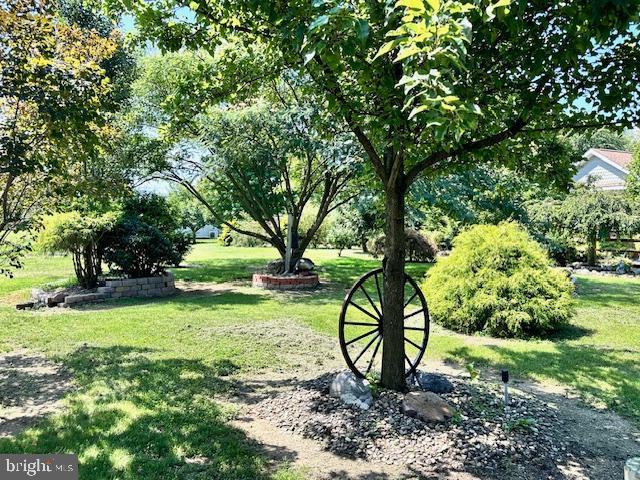
{"label": "low grey stone-block retaining wall below the dark bush", "polygon": [[69,307],[111,298],[165,297],[175,291],[176,285],[171,272],[162,277],[106,280],[105,285],[98,287],[95,292],[66,296],[61,306]]}

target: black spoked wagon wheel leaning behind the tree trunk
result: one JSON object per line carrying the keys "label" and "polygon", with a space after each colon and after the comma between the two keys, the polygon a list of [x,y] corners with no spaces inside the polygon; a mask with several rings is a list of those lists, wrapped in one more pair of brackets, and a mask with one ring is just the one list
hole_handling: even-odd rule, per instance
{"label": "black spoked wagon wheel leaning behind the tree trunk", "polygon": [[[415,374],[429,341],[429,310],[416,282],[405,274],[404,358],[406,376]],[[340,348],[349,369],[358,377],[381,371],[383,269],[364,274],[351,287],[340,312]]]}

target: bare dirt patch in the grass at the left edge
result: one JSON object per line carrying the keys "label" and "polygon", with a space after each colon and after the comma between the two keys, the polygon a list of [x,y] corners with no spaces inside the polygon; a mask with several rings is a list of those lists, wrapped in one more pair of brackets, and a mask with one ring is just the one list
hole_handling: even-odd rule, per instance
{"label": "bare dirt patch in the grass at the left edge", "polygon": [[12,437],[61,408],[72,388],[64,368],[45,357],[15,350],[0,355],[0,437]]}

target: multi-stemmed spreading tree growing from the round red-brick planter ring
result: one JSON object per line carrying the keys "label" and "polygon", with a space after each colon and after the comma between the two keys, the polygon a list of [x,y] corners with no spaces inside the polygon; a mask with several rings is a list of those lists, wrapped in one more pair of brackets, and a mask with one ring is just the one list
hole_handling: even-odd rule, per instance
{"label": "multi-stemmed spreading tree growing from the round red-brick planter ring", "polygon": [[[141,117],[156,122],[165,138],[183,141],[182,150],[174,149],[151,170],[156,178],[184,187],[216,223],[272,245],[282,259],[287,248],[284,225],[291,215],[293,235],[299,239],[291,268],[327,215],[353,196],[347,186],[361,162],[361,149],[352,135],[335,128],[331,137],[321,134],[313,97],[305,95],[295,78],[274,78],[259,97],[237,104],[220,106],[214,101],[218,97],[205,95],[206,110],[185,119],[187,107],[169,101],[168,92],[184,88],[185,78],[198,92],[201,70],[228,61],[224,56],[218,60],[220,55],[204,55],[204,60],[192,54],[169,56],[170,68],[162,58],[147,64],[138,83],[145,105]],[[198,95],[185,93],[186,104]],[[303,215],[312,210],[315,217],[302,231]],[[258,231],[241,227],[249,219],[258,223]]]}

